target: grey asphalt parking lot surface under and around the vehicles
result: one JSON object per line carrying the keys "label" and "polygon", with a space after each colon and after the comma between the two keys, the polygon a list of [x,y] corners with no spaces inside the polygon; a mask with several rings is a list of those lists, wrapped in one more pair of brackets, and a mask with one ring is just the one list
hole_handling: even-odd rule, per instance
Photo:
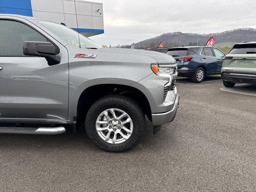
{"label": "grey asphalt parking lot surface under and around the vehicles", "polygon": [[[256,86],[179,78],[172,123],[124,153],[87,136],[0,134],[1,191],[256,191]],[[242,94],[241,94],[242,93]]]}

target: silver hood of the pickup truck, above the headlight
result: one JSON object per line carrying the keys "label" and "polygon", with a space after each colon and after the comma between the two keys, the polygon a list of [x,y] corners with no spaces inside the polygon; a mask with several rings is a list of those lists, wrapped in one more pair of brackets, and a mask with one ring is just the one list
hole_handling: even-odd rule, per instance
{"label": "silver hood of the pickup truck, above the headlight", "polygon": [[116,52],[117,54],[136,54],[136,55],[143,55],[149,56],[154,58],[158,64],[175,64],[176,60],[167,54],[156,52],[156,51],[149,51],[149,50],[139,50],[139,49],[126,49],[126,48],[100,48],[98,51],[102,52]]}

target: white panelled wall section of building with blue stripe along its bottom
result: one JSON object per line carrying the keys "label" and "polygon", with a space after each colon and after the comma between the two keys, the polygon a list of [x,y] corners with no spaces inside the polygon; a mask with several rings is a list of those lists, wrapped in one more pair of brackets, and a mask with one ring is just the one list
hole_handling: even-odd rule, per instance
{"label": "white panelled wall section of building with blue stripe along its bottom", "polygon": [[[33,17],[57,23],[70,28],[80,28],[88,33],[103,33],[102,3],[84,0],[31,0]],[[100,9],[98,11],[98,9]],[[93,31],[94,30],[94,31]]]}

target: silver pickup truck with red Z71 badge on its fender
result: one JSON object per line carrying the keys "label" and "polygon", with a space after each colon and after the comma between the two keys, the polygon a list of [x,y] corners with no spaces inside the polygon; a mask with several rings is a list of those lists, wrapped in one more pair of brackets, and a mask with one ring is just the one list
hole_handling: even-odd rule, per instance
{"label": "silver pickup truck with red Z71 badge on its fender", "polygon": [[85,129],[120,152],[156,133],[179,104],[172,56],[102,48],[62,25],[0,14],[0,133],[61,134]]}

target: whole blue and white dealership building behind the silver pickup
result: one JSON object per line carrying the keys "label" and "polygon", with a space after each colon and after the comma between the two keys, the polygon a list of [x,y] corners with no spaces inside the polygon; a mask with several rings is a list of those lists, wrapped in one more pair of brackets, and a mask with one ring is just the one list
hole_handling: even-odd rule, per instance
{"label": "whole blue and white dealership building behind the silver pickup", "polygon": [[84,0],[0,0],[0,13],[64,23],[85,36],[104,33],[102,3]]}

